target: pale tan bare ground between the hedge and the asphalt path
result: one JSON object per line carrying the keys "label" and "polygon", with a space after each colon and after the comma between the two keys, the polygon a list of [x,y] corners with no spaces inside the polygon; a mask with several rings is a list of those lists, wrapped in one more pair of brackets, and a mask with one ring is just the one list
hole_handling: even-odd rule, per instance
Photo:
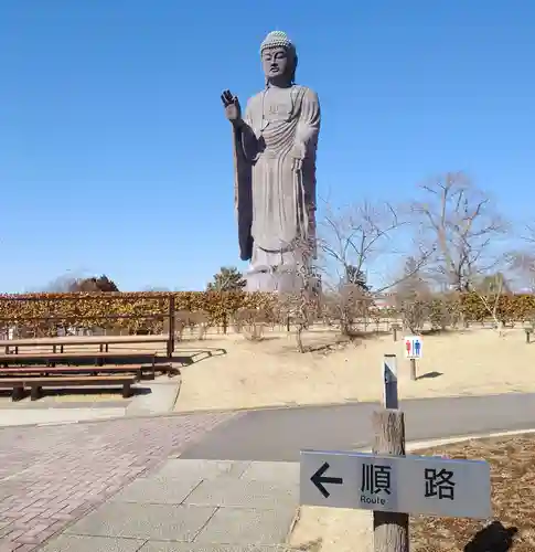
{"label": "pale tan bare ground between the hedge and the asphalt path", "polygon": [[258,342],[237,333],[179,342],[176,354],[195,355],[181,369],[176,410],[377,400],[385,353],[397,354],[402,399],[535,391],[535,343],[525,343],[521,328],[503,337],[492,329],[424,336],[417,381],[409,378],[403,336],[396,342],[372,332],[351,343],[336,344],[339,339],[334,330],[308,331],[306,353],[283,331],[266,332]]}

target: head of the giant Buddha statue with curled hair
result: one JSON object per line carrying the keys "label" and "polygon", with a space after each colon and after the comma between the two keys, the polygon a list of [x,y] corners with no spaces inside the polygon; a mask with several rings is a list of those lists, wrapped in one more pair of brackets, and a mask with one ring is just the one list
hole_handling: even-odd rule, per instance
{"label": "head of the giant Buddha statue with curled hair", "polygon": [[267,83],[293,84],[296,79],[296,46],[282,31],[270,32],[260,45],[260,57]]}

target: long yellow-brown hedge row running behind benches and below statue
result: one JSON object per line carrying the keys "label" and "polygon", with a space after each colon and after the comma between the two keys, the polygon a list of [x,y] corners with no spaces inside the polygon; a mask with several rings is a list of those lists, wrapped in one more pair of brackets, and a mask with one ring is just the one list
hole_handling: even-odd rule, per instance
{"label": "long yellow-brown hedge row running behind benches and below statue", "polygon": [[[161,331],[169,317],[170,301],[174,310],[203,311],[210,323],[224,325],[243,308],[260,308],[280,312],[277,300],[270,294],[247,294],[243,291],[176,291],[176,293],[106,293],[106,294],[31,294],[0,295],[0,327],[19,323],[26,328],[68,327],[122,328],[132,331],[145,328]],[[491,317],[495,299],[486,298],[486,305],[477,294],[462,294],[420,300],[427,317],[451,323],[459,319],[482,321]],[[327,302],[325,302],[327,305]],[[331,298],[332,305],[332,298]],[[371,318],[404,317],[403,301],[397,308],[376,309],[372,307]],[[335,314],[330,310],[330,316]],[[147,317],[147,318],[143,318]],[[52,321],[46,319],[53,318]],[[524,321],[535,319],[534,295],[503,295],[497,298],[496,318],[501,321]]]}

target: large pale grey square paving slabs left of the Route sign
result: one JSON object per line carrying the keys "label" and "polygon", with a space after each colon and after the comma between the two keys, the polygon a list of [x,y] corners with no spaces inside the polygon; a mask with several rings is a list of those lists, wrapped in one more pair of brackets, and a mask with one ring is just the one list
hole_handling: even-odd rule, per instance
{"label": "large pale grey square paving slabs left of the Route sign", "polygon": [[168,460],[43,552],[275,550],[299,501],[299,465]]}

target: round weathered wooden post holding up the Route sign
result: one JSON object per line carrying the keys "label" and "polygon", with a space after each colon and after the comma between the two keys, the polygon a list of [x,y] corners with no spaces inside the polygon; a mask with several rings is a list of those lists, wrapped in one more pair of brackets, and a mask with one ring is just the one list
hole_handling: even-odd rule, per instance
{"label": "round weathered wooden post holding up the Route sign", "polygon": [[[398,410],[381,410],[372,415],[374,454],[405,456],[405,418]],[[373,512],[374,551],[408,552],[408,513]]]}

